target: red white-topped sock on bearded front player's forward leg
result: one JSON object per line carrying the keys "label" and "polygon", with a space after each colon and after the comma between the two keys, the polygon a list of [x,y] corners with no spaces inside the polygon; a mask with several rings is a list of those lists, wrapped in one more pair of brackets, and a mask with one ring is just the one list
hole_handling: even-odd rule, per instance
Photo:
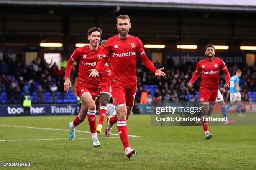
{"label": "red white-topped sock on bearded front player's forward leg", "polygon": [[126,125],[126,120],[120,120],[117,122],[118,133],[123,143],[123,149],[125,150],[126,147],[129,147],[128,141],[128,129]]}

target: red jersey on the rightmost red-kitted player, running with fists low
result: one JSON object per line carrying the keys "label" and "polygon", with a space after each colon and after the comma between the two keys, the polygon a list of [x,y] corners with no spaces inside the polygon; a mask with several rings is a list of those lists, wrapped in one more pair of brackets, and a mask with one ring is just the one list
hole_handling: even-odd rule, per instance
{"label": "red jersey on the rightmost red-kitted player, running with fists low", "polygon": [[214,57],[212,61],[206,58],[197,63],[196,72],[202,71],[202,81],[200,89],[208,91],[218,91],[220,81],[220,70],[224,70],[227,66],[224,61]]}

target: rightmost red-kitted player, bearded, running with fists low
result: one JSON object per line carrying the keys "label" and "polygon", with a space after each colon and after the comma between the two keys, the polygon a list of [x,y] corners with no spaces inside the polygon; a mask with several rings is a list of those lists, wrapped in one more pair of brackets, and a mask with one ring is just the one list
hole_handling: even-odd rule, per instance
{"label": "rightmost red-kitted player, bearded, running with fists low", "polygon": [[[199,100],[203,108],[202,118],[210,115],[215,106],[215,100],[218,95],[220,70],[225,73],[225,88],[229,87],[230,81],[230,75],[225,63],[223,62],[223,60],[214,57],[215,48],[213,45],[206,45],[205,55],[206,58],[197,63],[196,71],[188,84],[188,88],[192,88],[193,83],[197,80],[200,72],[202,72],[202,81],[199,90]],[[202,119],[202,125],[205,131],[205,138],[210,139],[212,135],[208,131],[208,121]]]}

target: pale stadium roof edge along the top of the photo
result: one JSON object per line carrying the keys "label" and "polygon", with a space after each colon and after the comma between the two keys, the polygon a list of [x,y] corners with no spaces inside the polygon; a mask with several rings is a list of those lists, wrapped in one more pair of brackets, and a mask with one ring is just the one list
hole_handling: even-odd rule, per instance
{"label": "pale stadium roof edge along the top of the photo", "polygon": [[119,6],[184,10],[256,11],[256,0],[0,0],[0,5]]}

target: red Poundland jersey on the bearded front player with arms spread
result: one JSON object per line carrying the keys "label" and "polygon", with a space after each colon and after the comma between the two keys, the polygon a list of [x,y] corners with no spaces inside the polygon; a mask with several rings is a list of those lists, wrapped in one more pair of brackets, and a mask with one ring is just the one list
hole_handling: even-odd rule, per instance
{"label": "red Poundland jersey on the bearded front player with arms spread", "polygon": [[129,35],[126,39],[118,35],[107,40],[102,57],[110,57],[111,83],[115,85],[133,85],[137,82],[137,55],[144,52],[140,39]]}

